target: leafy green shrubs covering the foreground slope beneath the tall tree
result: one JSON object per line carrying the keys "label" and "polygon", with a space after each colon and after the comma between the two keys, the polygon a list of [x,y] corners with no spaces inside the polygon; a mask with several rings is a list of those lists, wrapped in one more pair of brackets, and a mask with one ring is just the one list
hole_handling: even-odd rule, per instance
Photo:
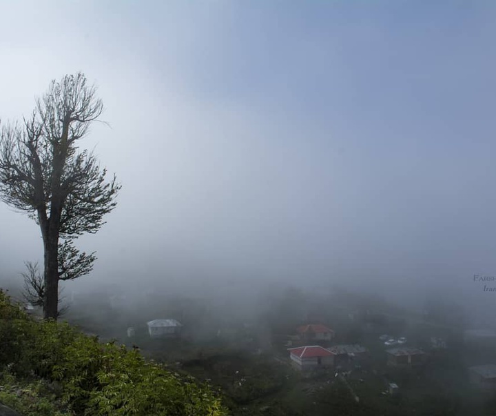
{"label": "leafy green shrubs covering the foreground slope beneath the tall tree", "polygon": [[25,415],[227,414],[206,384],[146,361],[136,348],[34,320],[3,290],[0,339],[0,400]]}

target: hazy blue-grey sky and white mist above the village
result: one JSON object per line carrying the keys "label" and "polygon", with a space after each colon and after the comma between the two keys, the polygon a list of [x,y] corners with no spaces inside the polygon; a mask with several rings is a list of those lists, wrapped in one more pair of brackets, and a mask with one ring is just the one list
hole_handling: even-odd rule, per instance
{"label": "hazy blue-grey sky and white mist above the village", "polygon": [[[472,281],[496,275],[494,1],[1,1],[0,15],[3,120],[79,70],[105,104],[110,127],[81,144],[123,188],[78,241],[99,257],[87,283],[496,296]],[[34,222],[0,215],[5,275],[41,261]]]}

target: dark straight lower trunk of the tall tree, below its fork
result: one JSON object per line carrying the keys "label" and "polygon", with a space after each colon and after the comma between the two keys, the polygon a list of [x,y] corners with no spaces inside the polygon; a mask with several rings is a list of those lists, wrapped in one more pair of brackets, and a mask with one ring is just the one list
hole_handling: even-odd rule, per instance
{"label": "dark straight lower trunk of the tall tree, below its fork", "polygon": [[[50,230],[53,231],[53,230]],[[49,232],[43,241],[45,251],[45,299],[43,317],[57,319],[59,312],[59,232]]]}

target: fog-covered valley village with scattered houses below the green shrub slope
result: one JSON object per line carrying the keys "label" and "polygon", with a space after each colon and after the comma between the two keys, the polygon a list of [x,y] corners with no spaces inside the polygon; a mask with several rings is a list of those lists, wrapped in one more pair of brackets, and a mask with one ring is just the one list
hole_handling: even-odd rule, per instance
{"label": "fog-covered valley village with scattered houses below the green shrub slope", "polygon": [[495,330],[468,328],[450,308],[412,313],[346,297],[288,289],[258,315],[243,315],[242,302],[229,314],[200,297],[148,297],[146,314],[136,305],[141,313],[125,317],[130,302],[112,295],[112,326],[78,317],[77,302],[67,319],[216,386],[234,415],[307,415],[308,406],[316,415],[336,406],[343,415],[486,414]]}

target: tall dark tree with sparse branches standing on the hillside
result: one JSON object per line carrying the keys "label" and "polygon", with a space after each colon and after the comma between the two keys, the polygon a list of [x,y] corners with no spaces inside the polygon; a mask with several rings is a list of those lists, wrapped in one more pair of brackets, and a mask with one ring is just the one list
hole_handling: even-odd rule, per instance
{"label": "tall dark tree with sparse branches standing on the hillside", "polygon": [[96,87],[79,72],[52,81],[30,117],[0,126],[0,198],[40,227],[43,279],[31,263],[23,275],[25,295],[45,319],[59,315],[59,281],[92,270],[94,252],[79,251],[74,239],[105,224],[121,189],[92,152],[79,150],[102,111]]}

